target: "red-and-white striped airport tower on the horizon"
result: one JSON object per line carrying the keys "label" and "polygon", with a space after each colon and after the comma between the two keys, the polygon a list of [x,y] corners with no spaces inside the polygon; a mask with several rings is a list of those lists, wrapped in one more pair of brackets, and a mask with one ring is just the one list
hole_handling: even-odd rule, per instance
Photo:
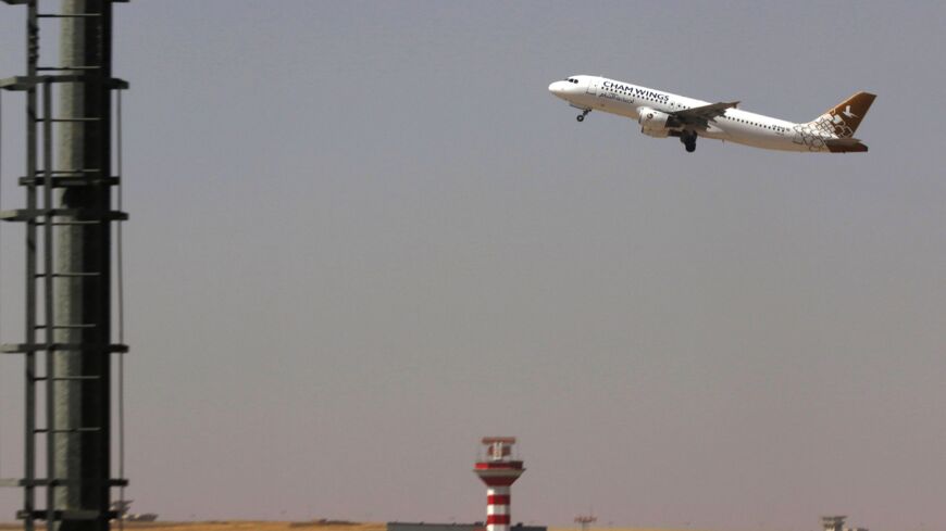
{"label": "red-and-white striped airport tower on the horizon", "polygon": [[473,469],[486,483],[486,531],[509,531],[510,488],[522,476],[522,462],[512,456],[514,437],[484,437],[486,455]]}

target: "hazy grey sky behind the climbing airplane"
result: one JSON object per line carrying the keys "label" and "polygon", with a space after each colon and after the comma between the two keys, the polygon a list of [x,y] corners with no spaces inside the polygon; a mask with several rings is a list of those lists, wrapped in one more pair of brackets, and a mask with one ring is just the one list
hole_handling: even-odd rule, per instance
{"label": "hazy grey sky behind the climbing airplane", "polygon": [[[509,434],[516,521],[946,528],[946,4],[115,11],[136,510],[482,520],[476,443]],[[24,16],[0,7],[0,77]],[[687,154],[576,123],[547,91],[570,74],[795,121],[870,90],[871,151]],[[10,477],[22,359],[0,368]]]}

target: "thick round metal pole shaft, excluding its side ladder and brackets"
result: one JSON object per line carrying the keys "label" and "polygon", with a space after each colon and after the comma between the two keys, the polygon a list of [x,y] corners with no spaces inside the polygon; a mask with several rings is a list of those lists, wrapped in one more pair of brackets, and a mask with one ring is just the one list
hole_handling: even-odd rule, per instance
{"label": "thick round metal pole shaft, excluding its side ladder and brackets", "polygon": [[[63,0],[61,67],[84,80],[61,85],[57,130],[58,170],[89,179],[111,176],[111,0]],[[54,470],[67,481],[55,488],[62,511],[94,511],[94,520],[64,518],[60,531],[109,529],[111,443],[111,190],[107,185],[64,187],[57,208],[54,325],[57,343],[82,345],[57,352],[52,426]],[[83,223],[98,220],[98,223]],[[51,326],[53,324],[47,324]]]}

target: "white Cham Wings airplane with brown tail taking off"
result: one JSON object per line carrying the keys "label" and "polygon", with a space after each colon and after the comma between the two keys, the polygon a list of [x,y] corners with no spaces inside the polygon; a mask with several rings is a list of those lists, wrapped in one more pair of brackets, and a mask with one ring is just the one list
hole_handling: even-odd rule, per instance
{"label": "white Cham Wings airplane with brown tail taking off", "polygon": [[739,102],[709,103],[662,90],[598,76],[572,76],[555,81],[549,91],[582,111],[578,122],[593,110],[634,118],[640,132],[679,137],[686,151],[696,150],[697,137],[714,138],[783,151],[867,151],[854,131],[876,96],[858,92],[818,118],[798,123],[736,109]]}

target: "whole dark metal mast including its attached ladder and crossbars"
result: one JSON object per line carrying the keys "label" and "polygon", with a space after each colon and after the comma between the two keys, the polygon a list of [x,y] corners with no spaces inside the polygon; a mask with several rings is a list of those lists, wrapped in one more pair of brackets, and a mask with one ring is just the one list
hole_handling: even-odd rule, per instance
{"label": "whole dark metal mast including its attached ladder and crossbars", "polygon": [[[23,489],[26,531],[37,520],[105,531],[111,491],[127,484],[111,473],[112,355],[127,352],[121,325],[112,340],[112,224],[127,218],[112,170],[112,93],[127,88],[112,77],[112,4],[126,0],[62,0],[58,12],[2,1],[25,7],[27,47],[26,75],[0,80],[26,100],[26,207],[0,213],[26,229],[25,339],[2,345],[25,358],[24,466],[4,483]],[[60,64],[41,63],[42,22],[61,26]]]}

